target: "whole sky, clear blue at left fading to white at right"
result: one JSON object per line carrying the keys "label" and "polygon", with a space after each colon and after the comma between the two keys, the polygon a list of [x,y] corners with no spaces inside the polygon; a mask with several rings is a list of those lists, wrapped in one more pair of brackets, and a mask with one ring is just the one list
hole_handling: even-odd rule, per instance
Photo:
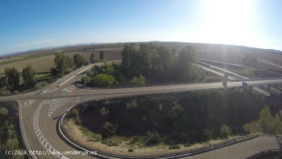
{"label": "whole sky, clear blue at left fading to white at right", "polygon": [[191,42],[282,50],[280,0],[0,1],[0,55],[79,43]]}

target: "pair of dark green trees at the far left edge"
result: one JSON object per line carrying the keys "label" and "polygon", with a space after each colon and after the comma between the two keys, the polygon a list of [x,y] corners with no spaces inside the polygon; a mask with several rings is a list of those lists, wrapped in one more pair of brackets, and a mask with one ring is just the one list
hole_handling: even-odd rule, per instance
{"label": "pair of dark green trees at the far left edge", "polygon": [[[0,76],[0,90],[14,92],[20,89],[19,79],[21,73],[14,67],[6,68],[4,76]],[[36,84],[36,70],[28,64],[22,71],[24,89],[33,88]]]}

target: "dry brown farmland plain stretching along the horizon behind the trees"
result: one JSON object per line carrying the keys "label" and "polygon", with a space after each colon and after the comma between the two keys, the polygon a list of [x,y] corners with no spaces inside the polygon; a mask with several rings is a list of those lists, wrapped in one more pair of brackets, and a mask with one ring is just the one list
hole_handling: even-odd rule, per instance
{"label": "dry brown farmland plain stretching along the horizon behind the trees", "polygon": [[[186,47],[187,45],[192,45],[197,53],[198,57],[206,58],[214,61],[232,63],[232,64],[242,64],[242,59],[246,53],[251,55],[256,55],[258,57],[258,67],[272,68],[277,70],[282,70],[282,52],[277,50],[268,49],[258,49],[250,48],[244,46],[232,46],[232,45],[220,45],[220,44],[198,44],[198,43],[180,43],[180,42],[152,42],[157,46],[165,46],[169,49],[175,48],[176,51]],[[135,43],[138,47],[138,43]],[[91,53],[95,54],[95,58],[99,58],[99,52],[105,51],[105,58],[107,60],[121,59],[124,47],[123,43],[117,44],[99,44],[99,45],[82,45],[82,46],[70,46],[65,48],[55,48],[47,50],[37,50],[20,55],[12,56],[9,59],[3,59],[2,61],[8,61],[10,59],[23,58],[26,56],[34,55],[44,55],[55,52],[65,52],[66,54],[72,56],[75,53],[83,54],[85,59],[89,62],[89,57]],[[274,54],[276,53],[276,54]],[[280,55],[279,55],[280,53]],[[49,71],[51,67],[54,66],[53,63],[54,55],[41,56],[31,59],[25,59],[23,61],[17,61],[5,65],[0,65],[0,73],[4,72],[6,67],[15,67],[19,71],[30,63],[37,72]]]}

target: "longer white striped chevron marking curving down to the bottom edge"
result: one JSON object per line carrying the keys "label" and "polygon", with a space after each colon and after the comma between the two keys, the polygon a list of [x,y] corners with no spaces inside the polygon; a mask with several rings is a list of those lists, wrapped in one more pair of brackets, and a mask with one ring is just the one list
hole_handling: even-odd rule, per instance
{"label": "longer white striped chevron marking curving down to the bottom edge", "polygon": [[[33,116],[33,121],[35,121],[36,124],[33,123],[33,128],[34,128],[34,132],[38,138],[38,141],[41,143],[41,145],[46,149],[46,150],[49,150],[49,151],[55,151],[55,152],[58,152],[55,148],[53,148],[53,146],[51,146],[48,141],[46,140],[46,138],[43,136],[41,130],[39,129],[39,126],[38,126],[38,115],[39,115],[39,112],[41,110],[41,108],[44,106],[46,101],[43,101],[36,109],[35,112],[38,112],[37,115],[34,114]],[[42,140],[43,138],[43,140]],[[46,143],[45,143],[46,142]],[[45,143],[45,144],[44,144]],[[62,158],[62,159],[69,159],[68,157],[64,156],[63,154],[53,154],[55,156],[57,156],[58,158]]]}

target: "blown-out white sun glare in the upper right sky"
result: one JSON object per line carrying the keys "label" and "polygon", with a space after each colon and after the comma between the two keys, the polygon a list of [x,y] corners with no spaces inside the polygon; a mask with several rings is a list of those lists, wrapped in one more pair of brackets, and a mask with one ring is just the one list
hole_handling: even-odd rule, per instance
{"label": "blown-out white sun glare in the upper right sky", "polygon": [[252,7],[251,0],[207,0],[203,5],[205,21],[195,31],[195,36],[206,43],[244,44],[255,40],[248,36],[251,34]]}

